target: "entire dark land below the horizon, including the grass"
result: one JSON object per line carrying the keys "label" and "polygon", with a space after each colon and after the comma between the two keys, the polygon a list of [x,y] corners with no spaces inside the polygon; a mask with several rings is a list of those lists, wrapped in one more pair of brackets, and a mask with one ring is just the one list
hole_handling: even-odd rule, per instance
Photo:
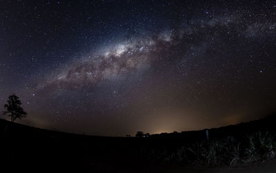
{"label": "entire dark land below the horizon, including the grass", "polygon": [[[1,169],[10,171],[39,172],[276,172],[273,155],[275,139],[263,137],[267,132],[274,134],[274,124],[275,118],[270,117],[262,121],[209,130],[213,135],[210,136],[210,142],[204,139],[204,130],[146,138],[101,137],[42,130],[0,119],[0,165]],[[259,143],[264,146],[270,144],[269,150],[266,147],[253,150],[259,145],[253,143],[252,147],[249,143],[250,147],[245,147],[246,152],[232,153],[237,148],[228,147],[228,143],[221,142],[225,141],[225,136],[242,139],[244,134],[253,140],[262,136],[262,140],[264,138],[266,141],[259,140]],[[202,143],[208,143],[208,150]],[[243,143],[245,142],[241,145]],[[202,147],[204,153],[201,150],[195,151],[195,145],[199,149]],[[217,145],[221,147],[218,149]],[[235,145],[240,146],[240,143],[233,143]],[[225,151],[225,147],[227,150],[229,148],[229,152]],[[243,147],[238,148],[242,149]],[[194,151],[189,154],[187,151],[190,150]],[[231,156],[224,159],[226,156],[222,157],[220,150],[227,157]],[[246,155],[247,150],[252,152],[249,153],[251,155]],[[219,162],[224,160],[225,163]]]}

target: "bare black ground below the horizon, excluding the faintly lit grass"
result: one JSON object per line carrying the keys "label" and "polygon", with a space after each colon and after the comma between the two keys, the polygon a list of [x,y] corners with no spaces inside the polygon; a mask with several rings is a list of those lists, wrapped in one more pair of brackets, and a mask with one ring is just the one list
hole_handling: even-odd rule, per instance
{"label": "bare black ground below the horizon, excluding the faintly lit grass", "polygon": [[[219,137],[272,128],[275,118],[211,129]],[[241,131],[242,130],[242,131]],[[204,138],[204,130],[147,138],[101,137],[32,128],[0,119],[0,165],[8,170],[85,172],[276,172],[275,159],[232,166],[199,166],[148,159],[148,147],[178,147]]]}

